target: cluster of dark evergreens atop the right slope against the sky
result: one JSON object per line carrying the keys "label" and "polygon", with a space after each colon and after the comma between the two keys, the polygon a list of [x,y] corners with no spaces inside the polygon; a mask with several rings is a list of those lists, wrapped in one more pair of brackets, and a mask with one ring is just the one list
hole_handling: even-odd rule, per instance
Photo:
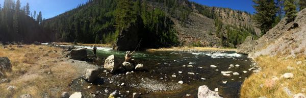
{"label": "cluster of dark evergreens atop the right slope against the sky", "polygon": [[253,2],[255,4],[253,8],[256,10],[254,20],[262,35],[284,17],[287,17],[287,22],[293,21],[297,11],[306,8],[306,0],[253,0]]}

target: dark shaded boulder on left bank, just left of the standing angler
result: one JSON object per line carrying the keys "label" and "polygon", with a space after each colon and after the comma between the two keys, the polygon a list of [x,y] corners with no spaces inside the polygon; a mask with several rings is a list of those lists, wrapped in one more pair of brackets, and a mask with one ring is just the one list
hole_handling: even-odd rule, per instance
{"label": "dark shaded boulder on left bank, just left of the standing angler", "polygon": [[73,49],[70,52],[70,57],[74,60],[85,61],[87,60],[87,51],[85,48]]}

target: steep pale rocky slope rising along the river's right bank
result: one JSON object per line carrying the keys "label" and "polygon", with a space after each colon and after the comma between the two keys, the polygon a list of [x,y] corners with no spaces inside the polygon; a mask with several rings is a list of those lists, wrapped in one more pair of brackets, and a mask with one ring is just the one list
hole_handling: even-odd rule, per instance
{"label": "steep pale rocky slope rising along the river's right bank", "polygon": [[[244,48],[246,45],[247,48]],[[253,58],[261,55],[296,57],[306,55],[305,49],[306,9],[297,13],[294,21],[288,23],[284,18],[260,39],[246,41],[238,48],[238,52]]]}

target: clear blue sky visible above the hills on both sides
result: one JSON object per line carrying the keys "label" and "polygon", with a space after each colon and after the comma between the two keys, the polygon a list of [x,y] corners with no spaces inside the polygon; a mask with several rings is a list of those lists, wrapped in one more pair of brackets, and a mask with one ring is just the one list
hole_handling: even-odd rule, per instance
{"label": "clear blue sky visible above the hills on both sides", "polygon": [[[16,0],[15,0],[16,1]],[[43,18],[51,18],[66,11],[69,11],[79,4],[84,4],[88,0],[20,0],[21,6],[30,4],[30,10],[38,13],[42,12]],[[252,0],[189,0],[202,5],[231,8],[235,10],[247,11],[253,13]],[[0,0],[3,5],[4,0]]]}

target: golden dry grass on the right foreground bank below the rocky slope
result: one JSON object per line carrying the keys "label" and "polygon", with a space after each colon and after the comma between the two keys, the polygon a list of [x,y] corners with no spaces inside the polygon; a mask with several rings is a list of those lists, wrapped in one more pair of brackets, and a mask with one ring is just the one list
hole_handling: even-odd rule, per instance
{"label": "golden dry grass on the right foreground bank below the rocky slope", "polygon": [[[262,71],[251,75],[243,82],[241,97],[293,97],[287,95],[284,87],[288,87],[293,94],[306,93],[306,63],[304,57],[283,59],[277,56],[262,56],[255,60],[262,68]],[[303,63],[297,65],[297,61],[302,61]],[[288,69],[288,66],[294,69]],[[291,72],[294,75],[293,79],[281,78],[287,72]]]}

